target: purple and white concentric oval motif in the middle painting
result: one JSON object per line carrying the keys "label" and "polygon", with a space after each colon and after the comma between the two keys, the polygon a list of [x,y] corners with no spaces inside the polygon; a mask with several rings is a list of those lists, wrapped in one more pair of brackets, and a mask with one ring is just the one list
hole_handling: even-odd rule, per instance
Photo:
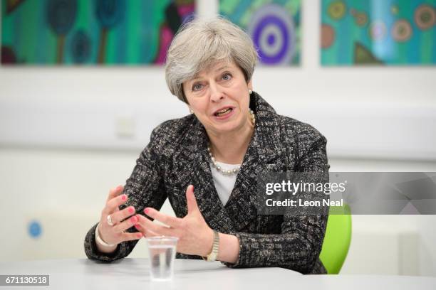
{"label": "purple and white concentric oval motif in the middle painting", "polygon": [[248,31],[261,63],[289,65],[295,49],[294,23],[289,12],[283,6],[266,4],[254,12],[249,23]]}

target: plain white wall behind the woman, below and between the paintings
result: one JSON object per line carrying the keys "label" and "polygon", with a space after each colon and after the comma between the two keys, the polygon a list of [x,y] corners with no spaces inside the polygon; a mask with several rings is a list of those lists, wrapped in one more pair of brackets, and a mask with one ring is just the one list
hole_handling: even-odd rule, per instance
{"label": "plain white wall behind the woman, below and between the paintings", "polygon": [[[216,9],[210,3],[200,1],[202,15]],[[435,68],[321,68],[319,9],[319,1],[303,1],[301,67],[257,68],[254,90],[327,136],[331,171],[436,171]],[[183,114],[162,68],[0,67],[0,210],[7,217],[0,260],[83,257],[83,235],[108,189],[128,178],[152,127]],[[117,120],[126,119],[134,136],[120,138]],[[35,217],[47,225],[46,240],[26,234]],[[436,276],[435,222],[353,216],[343,272]],[[416,259],[412,269],[392,245],[404,232],[418,237],[415,246],[402,244],[417,253],[406,257]]]}

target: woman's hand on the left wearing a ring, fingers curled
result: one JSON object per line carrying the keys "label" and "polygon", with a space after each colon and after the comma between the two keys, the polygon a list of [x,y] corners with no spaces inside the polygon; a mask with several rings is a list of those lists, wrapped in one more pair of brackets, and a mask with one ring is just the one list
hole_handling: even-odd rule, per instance
{"label": "woman's hand on the left wearing a ring, fingers curled", "polygon": [[[118,186],[109,191],[108,199],[106,200],[105,208],[103,208],[98,224],[98,233],[103,242],[111,245],[118,245],[120,242],[138,240],[142,237],[141,232],[125,232],[128,228],[136,225],[138,218],[136,210],[133,206],[129,206],[123,210],[118,207],[127,202],[128,197],[123,193],[123,186]],[[108,223],[108,215],[112,220],[113,225]],[[99,248],[102,246],[99,245]],[[116,247],[113,247],[115,250]],[[106,247],[108,249],[108,247]],[[106,252],[106,251],[105,251]]]}

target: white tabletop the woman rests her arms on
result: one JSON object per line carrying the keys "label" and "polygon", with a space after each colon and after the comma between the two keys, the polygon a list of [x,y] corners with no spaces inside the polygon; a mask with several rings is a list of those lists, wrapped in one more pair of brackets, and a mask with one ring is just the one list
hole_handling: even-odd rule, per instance
{"label": "white tabletop the woman rests her arms on", "polygon": [[0,286],[2,289],[436,289],[436,278],[422,276],[301,275],[281,268],[230,269],[219,262],[175,260],[175,277],[152,282],[147,259],[103,264],[88,259],[1,262],[0,274],[49,274],[50,286]]}

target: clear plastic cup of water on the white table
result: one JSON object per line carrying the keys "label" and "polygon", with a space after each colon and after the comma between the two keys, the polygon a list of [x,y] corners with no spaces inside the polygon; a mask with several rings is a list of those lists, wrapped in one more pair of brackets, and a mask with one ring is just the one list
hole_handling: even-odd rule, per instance
{"label": "clear plastic cup of water on the white table", "polygon": [[168,281],[174,273],[174,259],[178,237],[145,238],[150,254],[150,276],[153,281]]}

